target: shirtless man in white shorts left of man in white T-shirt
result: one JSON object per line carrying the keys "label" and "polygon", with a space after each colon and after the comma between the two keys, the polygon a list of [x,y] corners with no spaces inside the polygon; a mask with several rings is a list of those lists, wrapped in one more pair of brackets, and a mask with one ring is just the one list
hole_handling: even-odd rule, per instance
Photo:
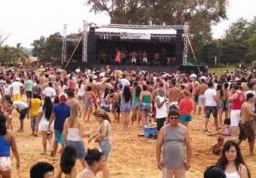
{"label": "shirtless man in white shorts left of man in white T-shirt", "polygon": [[206,85],[206,80],[205,79],[201,79],[200,80],[200,85],[198,86],[199,89],[199,96],[198,96],[198,115],[201,115],[201,110],[202,107],[204,108],[204,113],[206,112],[206,97],[205,97],[205,92],[206,89],[208,89],[208,86]]}

